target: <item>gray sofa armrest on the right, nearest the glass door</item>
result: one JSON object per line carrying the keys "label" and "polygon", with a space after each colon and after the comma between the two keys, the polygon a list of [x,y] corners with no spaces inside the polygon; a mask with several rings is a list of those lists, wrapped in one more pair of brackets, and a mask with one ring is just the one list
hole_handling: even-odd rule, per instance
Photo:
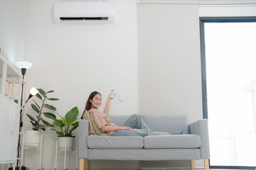
{"label": "gray sofa armrest on the right, nearest the glass door", "polygon": [[191,134],[199,135],[201,137],[200,155],[201,159],[210,158],[210,145],[209,145],[209,133],[208,133],[208,120],[197,120],[189,125]]}

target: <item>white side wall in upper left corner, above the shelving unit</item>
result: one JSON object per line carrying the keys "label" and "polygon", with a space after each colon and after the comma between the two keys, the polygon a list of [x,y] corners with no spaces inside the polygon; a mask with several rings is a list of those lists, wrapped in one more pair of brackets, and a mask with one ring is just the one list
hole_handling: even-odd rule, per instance
{"label": "white side wall in upper left corner, above the shelving unit", "polygon": [[26,3],[0,1],[0,47],[12,63],[23,60]]}

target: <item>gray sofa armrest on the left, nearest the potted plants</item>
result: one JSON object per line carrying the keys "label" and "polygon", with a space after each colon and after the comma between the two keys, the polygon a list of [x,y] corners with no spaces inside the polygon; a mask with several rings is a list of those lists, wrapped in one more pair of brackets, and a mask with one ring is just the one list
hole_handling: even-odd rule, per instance
{"label": "gray sofa armrest on the left, nearest the potted plants", "polygon": [[81,119],[79,120],[78,128],[78,158],[88,159],[88,147],[87,147],[87,136],[89,135],[89,121]]}

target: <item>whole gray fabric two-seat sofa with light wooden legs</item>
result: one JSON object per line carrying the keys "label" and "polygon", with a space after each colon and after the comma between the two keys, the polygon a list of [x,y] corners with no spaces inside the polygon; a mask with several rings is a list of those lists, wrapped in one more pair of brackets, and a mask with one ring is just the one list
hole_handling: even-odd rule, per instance
{"label": "whole gray fabric two-seat sofa with light wooden legs", "polygon": [[[110,115],[112,123],[122,125],[129,115]],[[78,157],[80,170],[88,169],[88,160],[191,160],[204,159],[209,169],[208,120],[188,123],[188,115],[141,115],[156,132],[181,132],[183,135],[112,137],[88,134],[88,120],[79,120]]]}

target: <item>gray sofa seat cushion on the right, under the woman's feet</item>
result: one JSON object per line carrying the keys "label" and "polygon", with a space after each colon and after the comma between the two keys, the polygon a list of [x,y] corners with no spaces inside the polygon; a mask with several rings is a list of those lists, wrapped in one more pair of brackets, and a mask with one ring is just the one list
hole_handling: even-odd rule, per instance
{"label": "gray sofa seat cushion on the right, under the woman's feet", "polygon": [[144,137],[144,148],[198,148],[199,135],[153,135]]}

